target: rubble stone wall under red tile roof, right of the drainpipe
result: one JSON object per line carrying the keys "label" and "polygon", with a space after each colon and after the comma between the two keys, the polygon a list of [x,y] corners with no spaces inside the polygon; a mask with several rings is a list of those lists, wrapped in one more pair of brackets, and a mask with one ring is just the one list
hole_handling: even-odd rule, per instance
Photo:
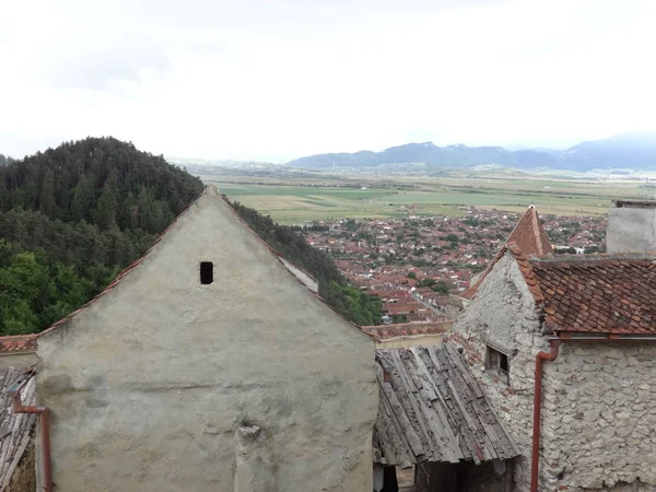
{"label": "rubble stone wall under red tile roof, right of the drainpipe", "polygon": [[656,490],[656,341],[563,342],[542,407],[541,490]]}

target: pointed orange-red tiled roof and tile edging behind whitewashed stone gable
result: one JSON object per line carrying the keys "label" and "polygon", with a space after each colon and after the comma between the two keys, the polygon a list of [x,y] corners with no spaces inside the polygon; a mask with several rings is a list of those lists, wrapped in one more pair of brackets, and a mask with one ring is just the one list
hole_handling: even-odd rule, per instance
{"label": "pointed orange-red tiled roof and tile edging behind whitewashed stone gable", "polygon": [[[522,219],[519,219],[519,222],[517,222],[517,225],[515,225],[515,229],[508,236],[506,244],[501,247],[494,259],[490,261],[488,268],[485,268],[483,273],[481,273],[478,281],[462,292],[460,297],[470,300],[476,295],[481,283],[483,283],[485,277],[488,277],[488,273],[490,273],[494,268],[494,265],[496,265],[496,262],[503,258],[503,255],[505,255],[505,251],[509,245],[515,245],[515,249],[518,248],[520,256],[524,258],[531,255],[549,255],[552,253],[553,247],[549,242],[549,237],[547,236],[544,227],[542,227],[542,223],[540,222],[540,218],[538,216],[538,211],[536,210],[535,206],[530,206],[528,208]],[[517,257],[517,253],[514,253],[514,255]],[[535,292],[532,293],[534,295],[536,294]]]}

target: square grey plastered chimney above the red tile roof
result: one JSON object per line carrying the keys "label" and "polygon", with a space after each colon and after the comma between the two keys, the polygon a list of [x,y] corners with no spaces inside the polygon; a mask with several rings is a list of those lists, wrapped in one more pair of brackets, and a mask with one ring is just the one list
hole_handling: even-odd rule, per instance
{"label": "square grey plastered chimney above the red tile roof", "polygon": [[656,201],[613,200],[608,211],[606,250],[656,251]]}

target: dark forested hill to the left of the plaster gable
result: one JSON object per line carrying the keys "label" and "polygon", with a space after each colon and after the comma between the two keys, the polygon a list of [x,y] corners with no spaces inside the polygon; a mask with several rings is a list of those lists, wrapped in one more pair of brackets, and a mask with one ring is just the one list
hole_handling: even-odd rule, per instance
{"label": "dark forested hill to the left of the plaster gable", "polygon": [[0,335],[40,331],[84,304],[201,190],[163,157],[112,138],[0,167]]}

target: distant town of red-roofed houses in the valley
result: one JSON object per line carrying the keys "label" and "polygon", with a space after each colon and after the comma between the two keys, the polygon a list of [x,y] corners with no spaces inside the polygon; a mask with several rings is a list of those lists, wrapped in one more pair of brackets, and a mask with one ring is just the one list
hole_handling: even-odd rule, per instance
{"label": "distant town of red-roofed houses in the valley", "polygon": [[[385,324],[454,319],[465,292],[522,214],[462,208],[461,216],[319,221],[304,234],[354,285],[382,301]],[[605,216],[541,215],[554,253],[605,249]],[[417,326],[415,326],[417,327]]]}

